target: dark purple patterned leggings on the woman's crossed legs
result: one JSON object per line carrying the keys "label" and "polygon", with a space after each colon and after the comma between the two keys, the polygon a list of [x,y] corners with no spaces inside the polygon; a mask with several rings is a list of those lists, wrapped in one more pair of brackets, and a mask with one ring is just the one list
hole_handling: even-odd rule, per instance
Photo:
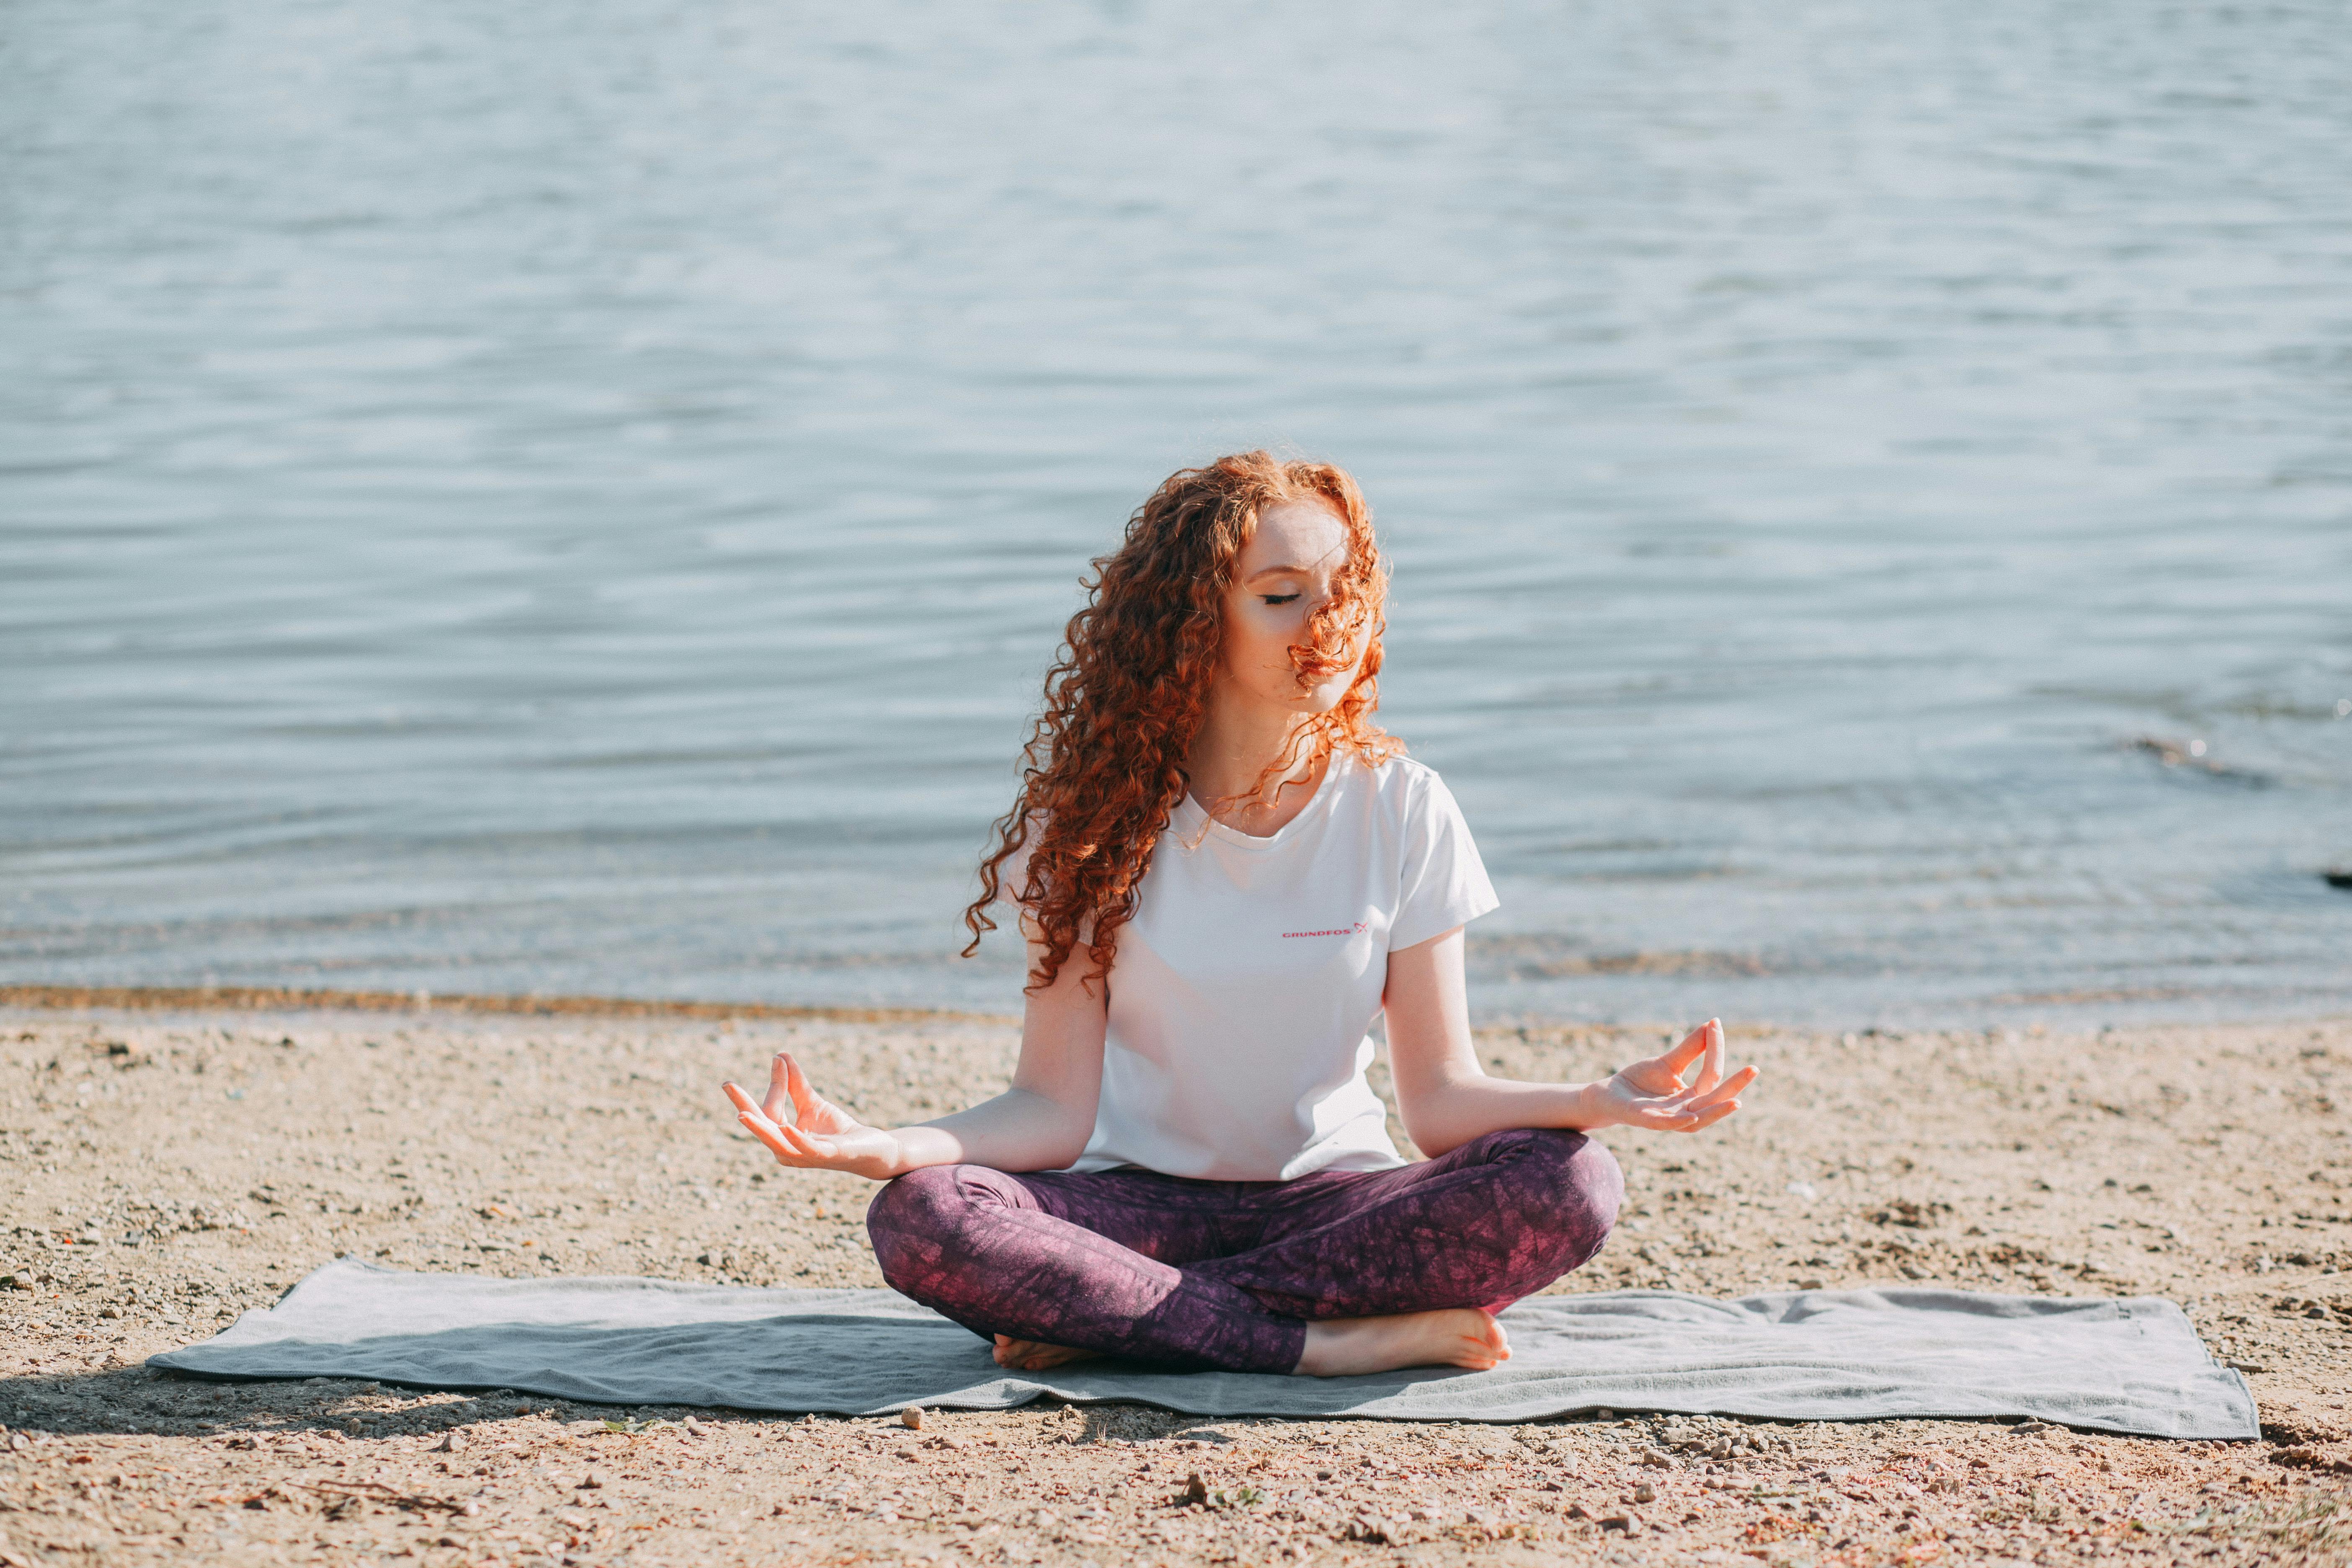
{"label": "dark purple patterned leggings on the woman's crossed legs", "polygon": [[1583,1133],[1418,1166],[1204,1182],[931,1166],[866,1213],[882,1276],[990,1338],[1289,1373],[1310,1319],[1501,1309],[1602,1251],[1625,1178]]}

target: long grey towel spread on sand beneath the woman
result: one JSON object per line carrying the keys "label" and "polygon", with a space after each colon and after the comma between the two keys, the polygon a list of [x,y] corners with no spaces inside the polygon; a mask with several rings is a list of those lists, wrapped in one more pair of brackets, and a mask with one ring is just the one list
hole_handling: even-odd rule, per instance
{"label": "long grey towel spread on sand beneath the woman", "polygon": [[964,1328],[889,1291],[663,1279],[482,1279],[332,1262],[266,1312],[151,1359],[207,1378],[372,1378],[597,1403],[880,1415],[1002,1410],[1040,1394],[1188,1415],[1522,1422],[1573,1410],[1766,1420],[2032,1415],[2067,1427],[2251,1439],[2253,1394],[2180,1307],[1976,1291],[1536,1295],[1491,1373],[1167,1373],[1080,1361],[1007,1373]]}

